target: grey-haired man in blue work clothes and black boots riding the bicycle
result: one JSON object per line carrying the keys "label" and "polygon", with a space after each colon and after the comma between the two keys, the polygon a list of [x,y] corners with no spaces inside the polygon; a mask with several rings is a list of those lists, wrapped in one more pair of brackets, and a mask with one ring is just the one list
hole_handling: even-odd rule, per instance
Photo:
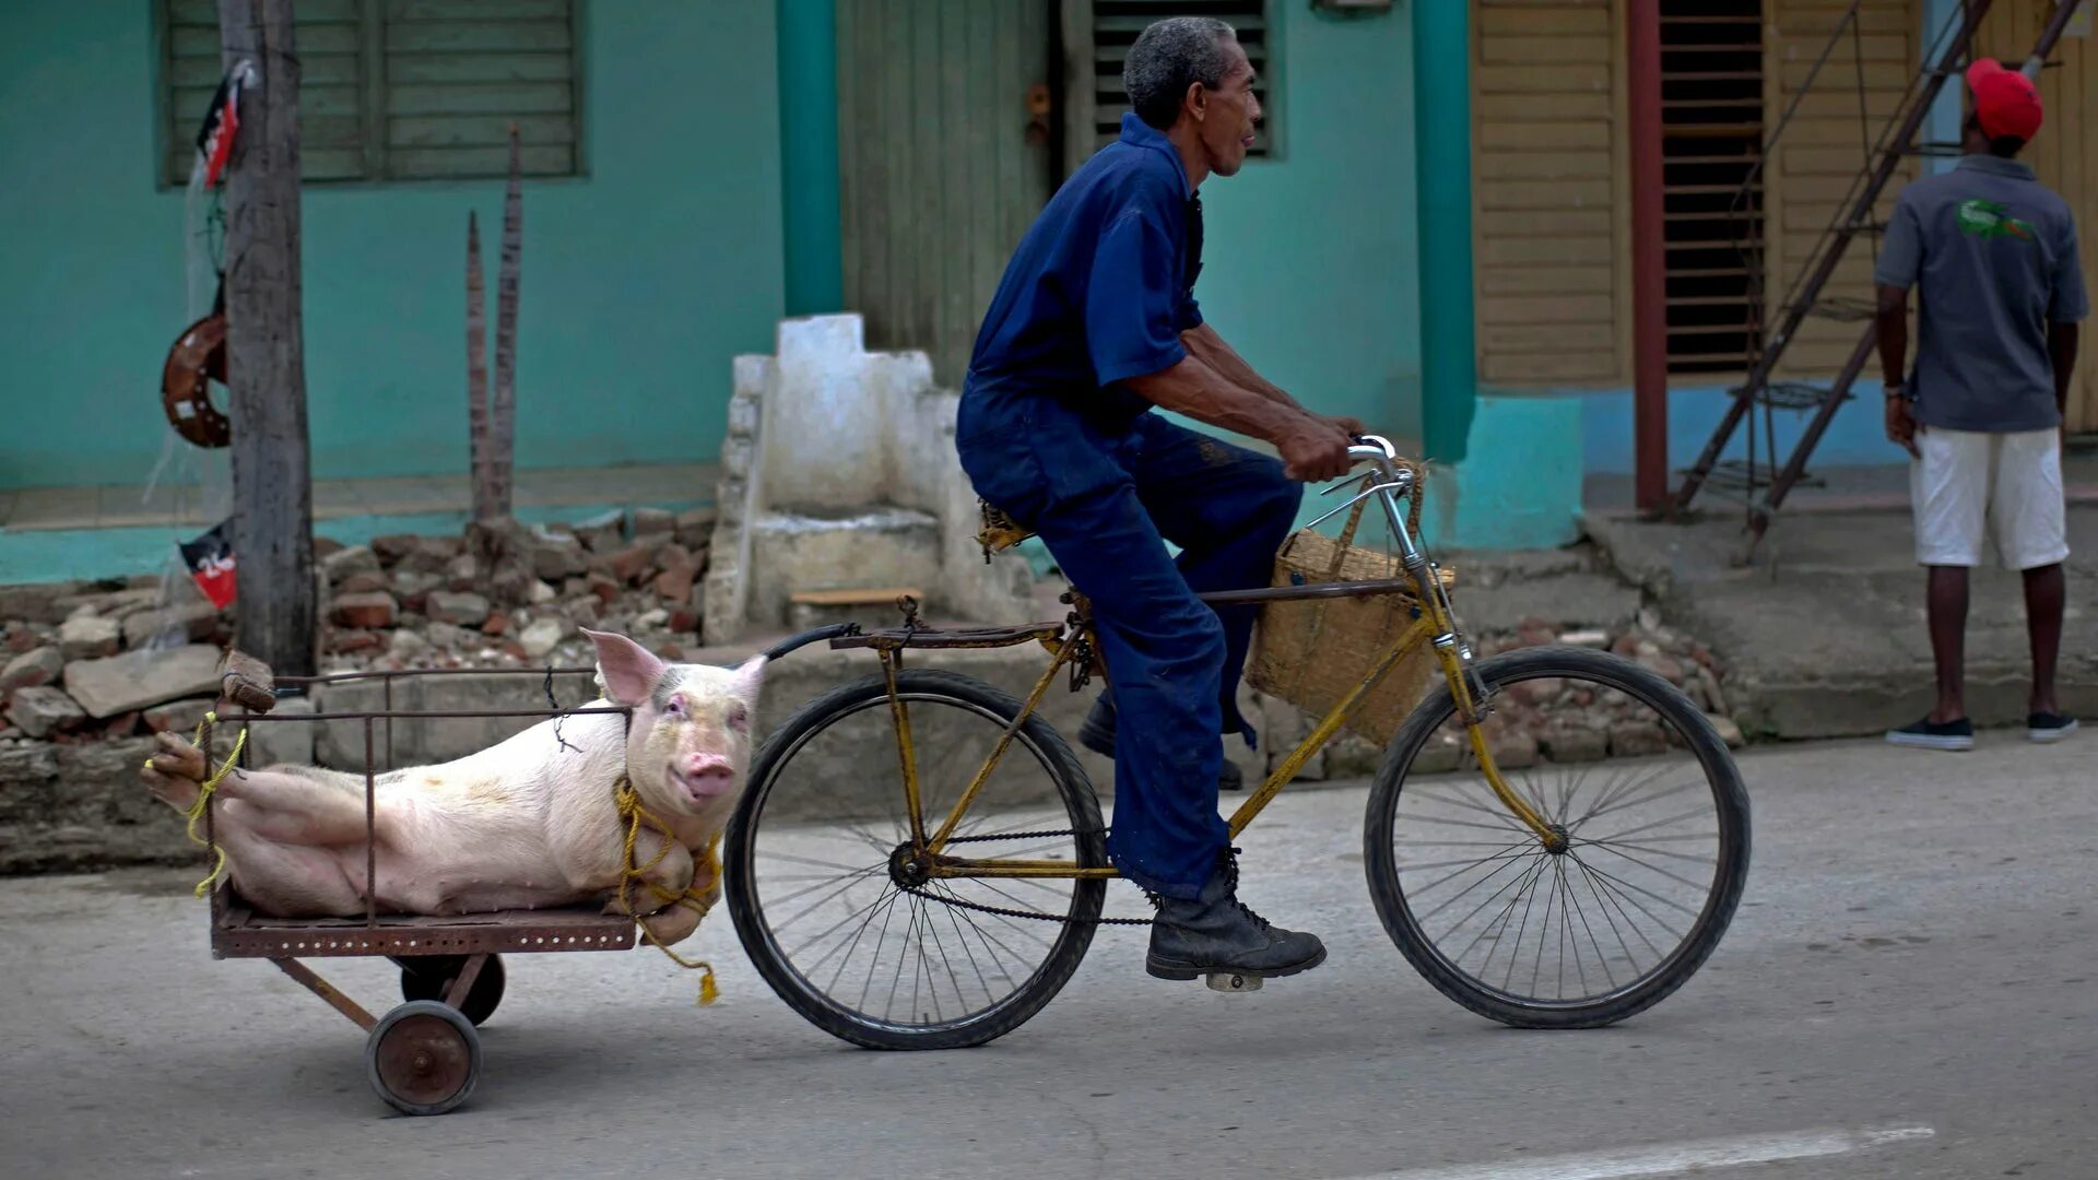
{"label": "grey-haired man in blue work clothes and black boots riding the bicycle", "polygon": [[[1158,905],[1146,970],[1282,976],[1324,962],[1313,934],[1238,901],[1217,815],[1223,735],[1257,607],[1303,481],[1347,475],[1353,418],[1311,414],[1202,321],[1202,202],[1253,147],[1261,103],[1229,25],[1143,29],[1122,71],[1122,134],[1043,208],[984,315],[957,451],[976,491],[1034,531],[1093,605],[1112,687],[1080,741],[1114,758],[1108,852]],[[1152,409],[1273,443],[1280,462]],[[1179,559],[1166,556],[1166,542]]]}

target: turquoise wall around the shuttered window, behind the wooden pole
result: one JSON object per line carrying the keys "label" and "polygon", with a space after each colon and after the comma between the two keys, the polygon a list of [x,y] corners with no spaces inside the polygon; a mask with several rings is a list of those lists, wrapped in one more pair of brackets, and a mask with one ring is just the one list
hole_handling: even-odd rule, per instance
{"label": "turquoise wall around the shuttered window, behind the wooden pole", "polygon": [[[187,307],[185,197],[155,189],[151,8],[6,8],[0,489],[141,483]],[[524,185],[516,462],[709,462],[730,357],[770,351],[785,307],[774,6],[587,13],[590,174]],[[468,210],[493,338],[499,181],[304,191],[315,477],[466,466]]]}

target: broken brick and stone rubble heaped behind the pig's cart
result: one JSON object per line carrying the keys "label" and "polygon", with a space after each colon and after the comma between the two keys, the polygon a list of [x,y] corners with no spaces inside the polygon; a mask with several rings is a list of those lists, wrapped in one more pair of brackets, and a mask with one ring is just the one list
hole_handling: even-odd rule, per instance
{"label": "broken brick and stone rubble heaped behind the pig's cart", "polygon": [[[321,672],[587,666],[585,626],[680,659],[701,642],[711,535],[711,508],[640,508],[506,529],[493,546],[474,529],[369,546],[317,540]],[[0,596],[0,741],[191,729],[212,705],[233,619],[191,584],[138,577]]]}

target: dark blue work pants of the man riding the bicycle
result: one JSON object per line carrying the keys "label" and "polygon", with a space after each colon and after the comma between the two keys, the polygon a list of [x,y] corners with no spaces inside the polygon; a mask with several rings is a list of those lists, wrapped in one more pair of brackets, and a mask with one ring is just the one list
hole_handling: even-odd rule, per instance
{"label": "dark blue work pants of the man riding the bicycle", "polygon": [[1074,397],[967,388],[955,445],[978,496],[1093,605],[1116,710],[1108,855],[1146,890],[1190,899],[1227,840],[1221,735],[1253,737],[1236,699],[1259,613],[1196,594],[1271,582],[1303,485],[1158,414],[1101,424]]}

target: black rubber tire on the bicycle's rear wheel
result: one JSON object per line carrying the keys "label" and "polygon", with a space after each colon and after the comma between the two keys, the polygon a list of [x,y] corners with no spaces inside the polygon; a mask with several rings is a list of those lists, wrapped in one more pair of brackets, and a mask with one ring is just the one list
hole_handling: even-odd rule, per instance
{"label": "black rubber tire on the bicycle's rear wheel", "polygon": [[[1022,710],[1018,697],[971,676],[942,670],[904,670],[896,676],[896,691],[913,701],[946,699],[963,708],[982,710],[1007,724]],[[757,974],[764,976],[789,1008],[833,1037],[871,1050],[952,1050],[982,1046],[1030,1020],[1062,991],[1072,972],[1078,970],[1078,962],[1085,960],[1085,951],[1093,943],[1093,920],[1099,918],[1106,901],[1106,880],[1089,878],[1072,882],[1070,920],[1057,926],[1059,936],[1053,949],[1013,995],[973,1018],[942,1027],[906,1027],[871,1020],[825,995],[787,960],[753,897],[755,836],[757,825],[764,823],[766,794],[776,781],[778,771],[808,737],[822,731],[829,722],[866,708],[869,701],[885,699],[887,687],[881,676],[854,680],[808,701],[766,739],[751,762],[749,785],[736,802],[722,842],[728,913],[734,920],[745,953],[757,966]],[[1055,781],[1070,827],[1078,834],[1074,836],[1076,863],[1083,867],[1106,867],[1108,848],[1101,836],[1099,800],[1085,768],[1078,766],[1070,745],[1064,743],[1064,737],[1036,714],[1022,722],[1013,735],[1013,750],[1007,750],[1007,758],[1020,754],[1024,745]],[[896,789],[902,792],[902,783]]]}

